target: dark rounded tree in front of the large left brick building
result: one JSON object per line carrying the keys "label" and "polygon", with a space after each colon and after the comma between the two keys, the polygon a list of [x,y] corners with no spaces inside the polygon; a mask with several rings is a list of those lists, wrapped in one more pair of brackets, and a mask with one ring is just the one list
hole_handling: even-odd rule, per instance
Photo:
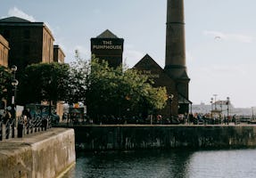
{"label": "dark rounded tree in front of the large left brick building", "polygon": [[18,100],[22,104],[67,100],[68,64],[38,63],[28,66],[21,79]]}

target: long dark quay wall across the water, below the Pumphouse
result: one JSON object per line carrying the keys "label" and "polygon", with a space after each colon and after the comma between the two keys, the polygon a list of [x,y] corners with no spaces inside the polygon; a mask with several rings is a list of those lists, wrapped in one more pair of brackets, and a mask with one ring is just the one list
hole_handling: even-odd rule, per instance
{"label": "long dark quay wall across the water, below the Pumphouse", "polygon": [[256,147],[256,125],[80,125],[80,150],[233,149]]}

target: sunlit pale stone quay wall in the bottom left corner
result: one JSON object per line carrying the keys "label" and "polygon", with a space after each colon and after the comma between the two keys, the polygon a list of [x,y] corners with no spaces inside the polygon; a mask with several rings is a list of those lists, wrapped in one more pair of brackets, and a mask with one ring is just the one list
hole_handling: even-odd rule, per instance
{"label": "sunlit pale stone quay wall in the bottom left corner", "polygon": [[57,177],[75,161],[73,129],[51,128],[0,142],[0,177]]}

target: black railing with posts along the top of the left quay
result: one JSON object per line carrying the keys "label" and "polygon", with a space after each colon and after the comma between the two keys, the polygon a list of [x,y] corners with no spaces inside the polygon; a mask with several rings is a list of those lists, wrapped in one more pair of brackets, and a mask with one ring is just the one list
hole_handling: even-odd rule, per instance
{"label": "black railing with posts along the top of the left quay", "polygon": [[52,120],[52,116],[18,117],[17,120],[8,119],[5,122],[0,119],[0,141],[45,131],[52,127]]}

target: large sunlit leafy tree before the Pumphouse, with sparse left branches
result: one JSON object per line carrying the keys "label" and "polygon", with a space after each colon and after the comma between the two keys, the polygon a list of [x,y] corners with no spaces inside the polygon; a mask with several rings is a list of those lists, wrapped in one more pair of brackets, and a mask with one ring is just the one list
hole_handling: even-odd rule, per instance
{"label": "large sunlit leafy tree before the Pumphouse, with sparse left branches", "polygon": [[83,60],[76,51],[76,61],[70,65],[69,102],[82,101],[87,114],[103,116],[136,116],[162,109],[167,101],[165,87],[153,87],[148,77],[136,69],[123,71],[110,68],[106,61],[92,57]]}

